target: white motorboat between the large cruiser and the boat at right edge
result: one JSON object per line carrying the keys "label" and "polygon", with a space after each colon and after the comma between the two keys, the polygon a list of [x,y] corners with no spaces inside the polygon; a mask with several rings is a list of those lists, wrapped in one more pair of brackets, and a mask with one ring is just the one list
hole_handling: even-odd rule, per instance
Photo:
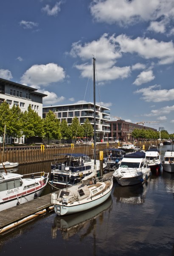
{"label": "white motorboat between the large cruiser and the boat at right edge", "polygon": [[149,149],[145,152],[146,153],[146,160],[151,169],[151,171],[159,171],[162,167],[162,162],[160,160],[160,153],[156,146],[152,145]]}

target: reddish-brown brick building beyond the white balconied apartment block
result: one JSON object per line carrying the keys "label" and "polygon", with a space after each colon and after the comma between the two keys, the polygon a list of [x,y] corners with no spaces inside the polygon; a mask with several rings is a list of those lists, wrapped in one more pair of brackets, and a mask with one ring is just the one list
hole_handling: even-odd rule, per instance
{"label": "reddish-brown brick building beyond the white balconied apartment block", "polygon": [[125,120],[109,121],[108,123],[110,125],[110,133],[108,134],[108,137],[113,138],[113,140],[133,141],[134,138],[131,134],[134,129],[151,129],[157,131],[154,128],[126,122]]}

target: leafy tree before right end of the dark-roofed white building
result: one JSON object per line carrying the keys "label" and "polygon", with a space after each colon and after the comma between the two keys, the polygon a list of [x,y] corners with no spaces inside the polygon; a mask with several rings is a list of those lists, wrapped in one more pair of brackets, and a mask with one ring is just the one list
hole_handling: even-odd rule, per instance
{"label": "leafy tree before right end of the dark-roofed white building", "polygon": [[31,106],[22,115],[22,133],[26,138],[44,135],[42,119]]}

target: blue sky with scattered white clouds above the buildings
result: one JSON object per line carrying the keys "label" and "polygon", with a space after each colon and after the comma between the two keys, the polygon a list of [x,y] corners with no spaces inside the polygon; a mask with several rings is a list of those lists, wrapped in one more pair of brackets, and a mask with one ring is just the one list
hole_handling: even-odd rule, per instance
{"label": "blue sky with scattered white clouds above the buildings", "polygon": [[[174,133],[173,0],[0,2],[0,78]],[[115,117],[116,116],[116,117]],[[150,123],[151,122],[151,123]]]}

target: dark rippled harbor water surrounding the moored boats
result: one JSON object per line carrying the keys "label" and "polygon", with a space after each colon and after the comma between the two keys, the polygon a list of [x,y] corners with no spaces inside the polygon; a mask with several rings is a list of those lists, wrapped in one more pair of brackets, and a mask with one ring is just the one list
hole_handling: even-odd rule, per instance
{"label": "dark rippled harbor water surrounding the moored boats", "polygon": [[[163,156],[172,145],[160,148]],[[50,171],[51,163],[19,166]],[[31,172],[33,170],[30,170]],[[44,193],[53,192],[47,185]],[[59,217],[46,213],[0,235],[0,256],[174,256],[174,173],[152,172],[144,184],[116,181],[99,207]]]}

